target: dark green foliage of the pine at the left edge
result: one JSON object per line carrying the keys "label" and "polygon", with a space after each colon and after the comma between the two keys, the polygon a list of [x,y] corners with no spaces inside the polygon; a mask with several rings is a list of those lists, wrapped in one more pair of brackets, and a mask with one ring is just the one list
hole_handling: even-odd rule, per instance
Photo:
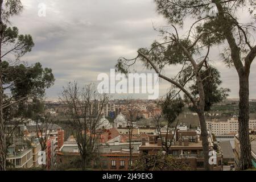
{"label": "dark green foliage of the pine at the left edge", "polygon": [[[14,2],[16,1],[8,1],[7,3],[9,4],[7,6],[16,8],[12,4]],[[15,11],[10,10],[9,13],[15,14]],[[35,113],[42,112],[42,98],[45,90],[53,85],[55,78],[52,70],[50,68],[43,68],[40,63],[28,66],[18,61],[21,56],[30,52],[32,47],[34,47],[31,35],[19,35],[17,27],[7,27],[6,25],[3,27],[1,46],[8,49],[2,52],[2,62],[0,64],[2,84],[3,89],[10,90],[11,93],[4,96],[3,103],[5,106],[23,99],[10,108],[6,108],[4,110],[5,117],[8,119],[21,116],[32,117]],[[14,55],[16,60],[10,61],[11,63],[6,61],[5,57],[9,54]],[[33,104],[28,104],[28,100],[32,100]]]}

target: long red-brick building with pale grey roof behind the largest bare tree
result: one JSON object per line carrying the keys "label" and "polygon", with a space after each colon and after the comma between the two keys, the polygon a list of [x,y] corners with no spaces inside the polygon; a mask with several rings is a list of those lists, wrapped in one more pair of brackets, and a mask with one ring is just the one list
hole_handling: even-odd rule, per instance
{"label": "long red-brick building with pale grey roof behind the largest bare tree", "polygon": [[[130,160],[129,143],[100,144],[97,150],[100,155],[96,156],[88,167],[93,170],[124,171],[129,166],[134,166],[139,157],[139,146],[141,142],[133,142],[133,156]],[[65,141],[61,150],[57,152],[57,164],[65,164],[80,157],[79,148],[75,141]]]}

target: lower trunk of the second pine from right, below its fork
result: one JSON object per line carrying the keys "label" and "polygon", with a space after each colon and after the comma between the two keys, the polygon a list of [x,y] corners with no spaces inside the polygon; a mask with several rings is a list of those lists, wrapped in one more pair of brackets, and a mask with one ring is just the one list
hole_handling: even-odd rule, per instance
{"label": "lower trunk of the second pine from right, below its fork", "polygon": [[209,141],[208,141],[208,132],[207,126],[205,123],[205,116],[204,113],[199,110],[197,111],[197,115],[199,116],[200,127],[201,127],[201,138],[202,138],[202,145],[203,145],[203,152],[204,152],[204,168],[205,170],[210,170],[209,164]]}

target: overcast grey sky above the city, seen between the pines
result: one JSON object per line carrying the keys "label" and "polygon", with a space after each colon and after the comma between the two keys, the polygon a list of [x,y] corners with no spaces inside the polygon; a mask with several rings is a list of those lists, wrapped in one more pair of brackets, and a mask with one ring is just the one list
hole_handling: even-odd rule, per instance
{"label": "overcast grey sky above the city, seen between the pines", "polygon": [[[134,57],[140,47],[149,47],[158,38],[154,26],[167,25],[156,13],[153,0],[23,0],[24,10],[11,19],[21,34],[31,34],[35,47],[22,60],[53,69],[56,81],[47,90],[47,99],[56,100],[70,81],[96,82],[99,73],[108,73],[120,56]],[[46,5],[46,16],[38,16],[39,4]],[[241,19],[246,16],[241,14]],[[189,24],[189,22],[187,22]],[[185,24],[183,30],[188,26]],[[255,35],[255,33],[254,33]],[[256,37],[256,36],[255,36]],[[238,97],[238,76],[234,68],[220,61],[220,48],[210,52],[212,64],[221,72],[222,86],[230,97]],[[251,66],[250,98],[256,98],[256,61]],[[138,68],[138,71],[142,71]],[[168,76],[177,68],[166,70]],[[160,81],[160,95],[170,85]],[[118,97],[118,96],[116,96]],[[123,96],[122,96],[123,97]],[[127,96],[125,96],[127,97]],[[132,96],[147,98],[146,96]]]}

